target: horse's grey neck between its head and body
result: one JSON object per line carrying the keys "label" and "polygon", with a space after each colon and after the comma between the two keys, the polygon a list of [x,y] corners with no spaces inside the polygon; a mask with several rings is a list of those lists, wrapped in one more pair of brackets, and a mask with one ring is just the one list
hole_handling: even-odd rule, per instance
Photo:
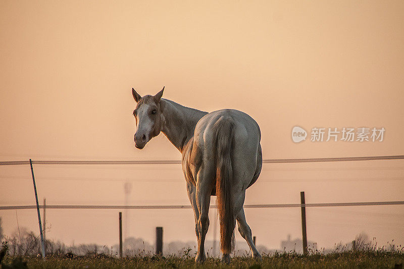
{"label": "horse's grey neck between its head and body", "polygon": [[160,106],[163,114],[162,132],[182,153],[186,143],[193,137],[196,123],[208,113],[163,98]]}

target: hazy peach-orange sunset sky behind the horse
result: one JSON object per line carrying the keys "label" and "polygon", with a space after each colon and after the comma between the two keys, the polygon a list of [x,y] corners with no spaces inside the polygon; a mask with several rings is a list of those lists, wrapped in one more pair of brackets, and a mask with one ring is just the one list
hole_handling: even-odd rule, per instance
{"label": "hazy peach-orange sunset sky behind the horse", "polygon": [[[143,150],[131,94],[212,112],[231,108],[261,128],[264,159],[404,154],[401,1],[2,1],[0,160],[179,160],[160,134]],[[291,138],[294,126],[306,141]],[[310,141],[312,128],[384,128],[383,141]],[[328,129],[326,129],[328,130]],[[264,164],[245,204],[404,200],[404,161]],[[189,204],[180,165],[35,165],[47,204]],[[29,166],[0,167],[0,205],[35,203]],[[211,210],[211,228],[214,211]],[[259,244],[301,236],[299,208],[246,209]],[[37,231],[35,210],[18,210]],[[16,211],[1,210],[5,233]],[[130,210],[126,236],[196,240],[191,209]],[[308,208],[320,247],[361,232],[404,245],[404,206]],[[118,242],[118,210],[49,209],[46,236]],[[208,238],[213,237],[210,229]],[[237,232],[236,232],[237,233]],[[242,238],[237,234],[237,240]]]}

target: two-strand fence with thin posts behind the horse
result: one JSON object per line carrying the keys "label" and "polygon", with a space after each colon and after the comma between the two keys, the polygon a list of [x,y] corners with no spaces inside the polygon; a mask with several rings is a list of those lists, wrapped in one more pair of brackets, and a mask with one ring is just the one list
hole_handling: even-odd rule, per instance
{"label": "two-strand fence with thin posts behind the horse", "polygon": [[[363,160],[387,160],[404,159],[404,155],[392,156],[365,156],[365,157],[341,157],[341,158],[300,158],[300,159],[264,159],[264,164],[276,163],[317,163],[317,162],[346,162]],[[45,243],[42,234],[42,225],[40,218],[40,208],[44,209],[190,209],[190,205],[39,205],[35,179],[32,165],[180,165],[179,160],[29,160],[0,162],[0,166],[8,165],[30,165],[32,180],[35,190],[36,205],[12,205],[0,206],[0,210],[10,209],[37,209],[38,224],[41,236],[42,257],[45,258]],[[290,204],[245,204],[244,208],[274,208],[274,207],[300,207],[301,225],[302,225],[302,246],[304,253],[308,253],[307,233],[306,233],[306,207],[326,207],[326,206],[373,206],[373,205],[403,205],[404,201],[380,201],[380,202],[341,202],[341,203],[306,203],[305,193],[300,192],[300,203]],[[210,205],[210,208],[216,208],[216,205]],[[122,257],[122,213],[119,212],[120,221],[120,257]],[[157,229],[162,229],[158,227]],[[44,230],[44,229],[43,229]],[[254,239],[255,241],[255,239]],[[162,245],[162,238],[160,238]]]}

